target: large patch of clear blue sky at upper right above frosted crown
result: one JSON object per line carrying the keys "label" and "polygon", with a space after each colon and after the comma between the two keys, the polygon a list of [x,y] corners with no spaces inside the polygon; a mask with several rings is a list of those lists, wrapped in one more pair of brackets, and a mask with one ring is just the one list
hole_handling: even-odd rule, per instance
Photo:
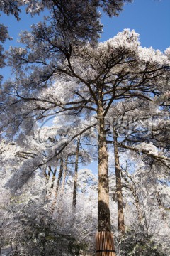
{"label": "large patch of clear blue sky at upper right above frosted crown", "polygon": [[170,46],[170,0],[134,0],[125,4],[118,17],[103,16],[101,41],[106,41],[124,28],[140,34],[143,47],[164,51]]}

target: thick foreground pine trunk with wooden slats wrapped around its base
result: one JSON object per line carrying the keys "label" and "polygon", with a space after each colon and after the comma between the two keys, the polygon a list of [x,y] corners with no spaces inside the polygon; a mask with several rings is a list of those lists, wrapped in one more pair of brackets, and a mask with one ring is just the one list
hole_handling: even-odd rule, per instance
{"label": "thick foreground pine trunk with wooden slats wrapped around its base", "polygon": [[[98,233],[96,234],[96,256],[115,256],[115,245],[111,233],[108,186],[108,151],[106,143],[103,106],[98,104]],[[110,241],[109,244],[107,241]]]}

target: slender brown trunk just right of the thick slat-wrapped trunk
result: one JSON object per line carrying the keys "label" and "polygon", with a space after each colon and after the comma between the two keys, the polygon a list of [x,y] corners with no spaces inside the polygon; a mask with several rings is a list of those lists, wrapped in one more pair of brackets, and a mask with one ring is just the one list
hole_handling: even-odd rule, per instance
{"label": "slender brown trunk just right of the thick slat-wrapped trunk", "polygon": [[124,222],[124,213],[123,213],[121,167],[120,167],[119,152],[118,152],[118,135],[114,128],[113,128],[113,139],[114,139],[114,153],[115,153],[116,193],[117,193],[117,200],[118,200],[118,230],[122,235],[124,235],[125,234],[125,222]]}

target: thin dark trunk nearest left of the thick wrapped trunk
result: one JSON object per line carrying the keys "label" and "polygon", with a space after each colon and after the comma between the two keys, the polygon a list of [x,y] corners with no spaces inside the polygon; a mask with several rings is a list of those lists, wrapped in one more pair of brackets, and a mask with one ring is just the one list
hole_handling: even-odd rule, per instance
{"label": "thin dark trunk nearest left of the thick wrapped trunk", "polygon": [[78,178],[78,164],[79,164],[79,145],[80,145],[80,137],[77,139],[77,151],[76,151],[76,162],[74,169],[74,187],[73,187],[73,201],[72,208],[75,210],[77,204],[77,178]]}

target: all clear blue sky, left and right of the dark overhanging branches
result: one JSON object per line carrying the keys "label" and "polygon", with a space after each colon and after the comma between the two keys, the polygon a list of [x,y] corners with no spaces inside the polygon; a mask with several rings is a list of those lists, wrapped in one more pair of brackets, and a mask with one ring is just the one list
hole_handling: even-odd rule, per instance
{"label": "all clear blue sky, left and right of the dark overhanging branches", "polygon": [[[42,17],[21,13],[21,21],[16,21],[13,16],[2,14],[1,23],[8,26],[9,35],[13,41],[6,41],[5,49],[10,45],[17,46],[18,34],[21,30],[30,29],[30,25],[42,20]],[[170,0],[134,0],[132,4],[125,4],[118,17],[108,18],[103,15],[101,22],[104,25],[100,41],[106,41],[115,36],[124,28],[135,29],[140,34],[142,46],[164,51],[170,46]],[[9,69],[0,70],[4,80],[10,76]]]}

